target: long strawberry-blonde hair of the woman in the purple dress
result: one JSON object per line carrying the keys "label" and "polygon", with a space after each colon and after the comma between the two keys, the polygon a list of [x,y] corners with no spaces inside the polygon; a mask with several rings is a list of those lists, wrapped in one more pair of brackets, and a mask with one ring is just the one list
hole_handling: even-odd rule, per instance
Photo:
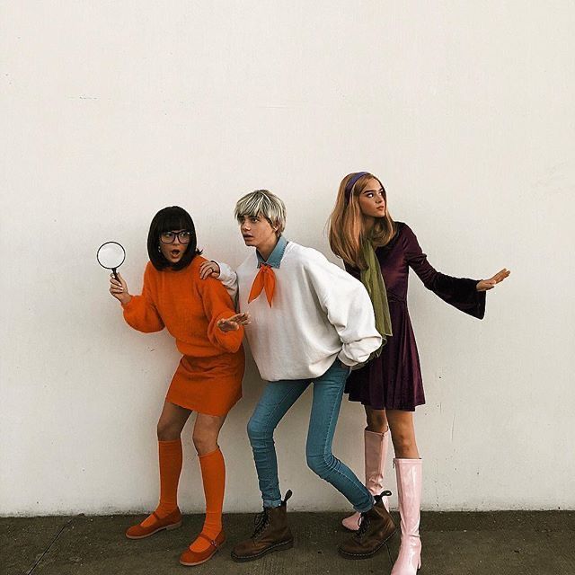
{"label": "long strawberry-blonde hair of the woman in the purple dress", "polygon": [[[387,209],[387,193],[384,184],[371,173],[362,173],[359,177],[357,172],[349,173],[341,180],[335,208],[333,208],[329,220],[329,239],[332,252],[358,270],[367,268],[367,263],[361,255],[361,246],[367,239],[367,235],[358,198],[367,188],[367,182],[371,179],[379,181],[382,190],[384,190],[385,216],[376,218],[374,226],[369,232],[369,239],[375,247],[389,243],[395,234],[395,222]],[[349,183],[351,183],[350,188]]]}

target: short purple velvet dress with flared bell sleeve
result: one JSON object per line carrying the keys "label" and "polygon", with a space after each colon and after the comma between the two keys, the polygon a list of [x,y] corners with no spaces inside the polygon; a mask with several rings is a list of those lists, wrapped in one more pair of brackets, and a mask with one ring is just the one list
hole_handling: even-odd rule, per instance
{"label": "short purple velvet dress with flared bell sleeve", "polygon": [[[352,371],[346,393],[352,402],[361,402],[376,410],[414,411],[425,403],[421,380],[420,357],[407,309],[407,283],[411,268],[423,285],[466,314],[482,319],[485,292],[478,292],[478,279],[452,278],[434,270],[410,226],[397,222],[397,232],[390,243],[376,249],[387,290],[389,313],[394,335],[379,358],[366,367]],[[359,271],[346,266],[356,278]]]}

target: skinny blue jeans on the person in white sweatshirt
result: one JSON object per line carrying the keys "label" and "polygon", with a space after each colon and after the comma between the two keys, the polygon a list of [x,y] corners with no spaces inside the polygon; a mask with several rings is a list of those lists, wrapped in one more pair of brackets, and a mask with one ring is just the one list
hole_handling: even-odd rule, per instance
{"label": "skinny blue jeans on the person in white sweatshirt", "polygon": [[356,511],[368,511],[374,498],[346,464],[332,454],[333,434],[340,414],[341,397],[349,368],[336,359],[323,376],[270,382],[248,422],[248,436],[258,471],[264,507],[281,503],[278,460],[273,431],[288,409],[296,403],[308,385],[314,382],[314,401],[309,420],[305,456],[310,469],[346,497]]}

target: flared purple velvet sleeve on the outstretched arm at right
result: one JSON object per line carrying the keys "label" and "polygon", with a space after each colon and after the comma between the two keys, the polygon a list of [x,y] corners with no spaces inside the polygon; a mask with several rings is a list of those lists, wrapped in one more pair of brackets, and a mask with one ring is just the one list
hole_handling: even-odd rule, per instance
{"label": "flared purple velvet sleeve on the outstretched arm at right", "polygon": [[417,237],[409,226],[404,225],[402,237],[405,261],[419,276],[423,285],[447,304],[465,314],[483,319],[486,296],[484,291],[477,291],[479,279],[453,278],[440,273],[429,263],[428,256],[421,250]]}

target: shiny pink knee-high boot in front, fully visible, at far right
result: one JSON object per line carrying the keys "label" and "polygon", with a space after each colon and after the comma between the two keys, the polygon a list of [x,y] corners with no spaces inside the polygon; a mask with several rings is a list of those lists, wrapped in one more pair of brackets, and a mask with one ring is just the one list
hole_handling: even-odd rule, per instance
{"label": "shiny pink knee-high boot in front, fully visible, at far right", "polygon": [[421,567],[420,506],[422,463],[420,459],[394,459],[402,544],[391,575],[415,575]]}

